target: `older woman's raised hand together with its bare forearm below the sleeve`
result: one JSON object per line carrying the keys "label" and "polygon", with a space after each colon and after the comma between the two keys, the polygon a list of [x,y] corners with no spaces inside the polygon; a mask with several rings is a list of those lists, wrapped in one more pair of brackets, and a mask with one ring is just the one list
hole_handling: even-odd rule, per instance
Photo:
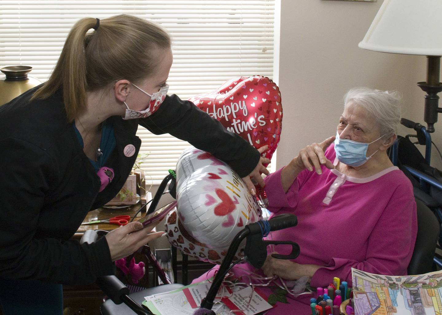
{"label": "older woman's raised hand together with its bare forearm below the sleeve", "polygon": [[304,169],[308,169],[311,172],[314,168],[316,173],[322,174],[321,165],[325,165],[328,169],[335,168],[335,165],[333,165],[333,163],[324,155],[324,151],[334,141],[335,136],[327,138],[320,143],[312,143],[299,151],[299,155],[294,157],[293,160],[282,170],[281,181],[284,192],[289,190],[295,178]]}

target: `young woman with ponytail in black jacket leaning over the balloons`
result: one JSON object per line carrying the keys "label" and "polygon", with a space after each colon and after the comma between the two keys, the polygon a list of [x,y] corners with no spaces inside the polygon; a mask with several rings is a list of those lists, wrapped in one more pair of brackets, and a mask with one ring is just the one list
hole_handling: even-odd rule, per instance
{"label": "young woman with ponytail in black jacket leaning over the balloons", "polygon": [[70,239],[125,183],[141,146],[138,125],[214,154],[251,189],[250,177],[262,183],[267,159],[194,104],[166,95],[171,64],[171,38],[155,23],[80,19],[49,80],[0,107],[5,315],[62,314],[61,284],[113,274],[113,261],[163,234],[133,222],[94,244]]}

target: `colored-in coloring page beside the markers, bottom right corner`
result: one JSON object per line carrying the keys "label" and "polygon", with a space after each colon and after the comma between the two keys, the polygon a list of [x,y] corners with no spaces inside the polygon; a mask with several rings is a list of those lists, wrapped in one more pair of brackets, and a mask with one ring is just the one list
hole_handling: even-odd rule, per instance
{"label": "colored-in coloring page beside the markers, bottom right corner", "polygon": [[442,271],[383,276],[351,269],[355,315],[442,314]]}

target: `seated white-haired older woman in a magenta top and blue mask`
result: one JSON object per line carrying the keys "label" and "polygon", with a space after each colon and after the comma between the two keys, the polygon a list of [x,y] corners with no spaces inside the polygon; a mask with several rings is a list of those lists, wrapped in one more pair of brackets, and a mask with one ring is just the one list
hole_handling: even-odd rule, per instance
{"label": "seated white-haired older woman in a magenta top and blue mask", "polygon": [[[269,255],[265,275],[285,280],[309,276],[316,288],[327,287],[333,277],[351,285],[351,268],[407,273],[417,233],[416,204],[412,184],[386,153],[396,139],[398,103],[395,93],[351,89],[344,97],[336,137],[305,147],[267,176],[269,210],[294,213],[298,219],[296,227],[273,232],[272,238],[297,242],[301,254],[293,261]],[[290,250],[275,247],[280,254]],[[244,273],[241,268],[234,271],[237,276]],[[207,275],[213,271],[195,281]],[[274,310],[309,314],[311,297],[278,302]]]}

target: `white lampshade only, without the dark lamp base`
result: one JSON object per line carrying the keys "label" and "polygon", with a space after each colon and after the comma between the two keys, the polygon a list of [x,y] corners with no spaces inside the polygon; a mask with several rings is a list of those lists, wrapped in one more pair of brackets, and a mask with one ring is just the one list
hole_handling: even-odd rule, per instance
{"label": "white lampshade only, without the dark lamp base", "polygon": [[384,0],[359,47],[441,56],[442,0]]}

